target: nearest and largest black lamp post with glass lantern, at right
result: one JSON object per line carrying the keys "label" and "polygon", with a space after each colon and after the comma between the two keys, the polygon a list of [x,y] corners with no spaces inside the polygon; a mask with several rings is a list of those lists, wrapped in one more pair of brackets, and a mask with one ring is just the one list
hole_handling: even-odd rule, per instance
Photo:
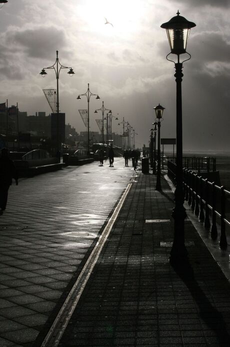
{"label": "nearest and largest black lamp post with glass lantern, at right", "polygon": [[[172,17],[167,23],[163,23],[161,28],[166,29],[170,53],[166,56],[168,61],[175,65],[175,81],[176,81],[176,188],[174,192],[175,206],[172,211],[174,218],[174,239],[170,251],[169,262],[173,266],[183,266],[188,263],[187,250],[184,244],[184,219],[186,217],[183,191],[183,170],[182,170],[182,97],[181,97],[181,82],[182,82],[182,64],[191,58],[191,55],[186,52],[188,34],[195,24],[187,21],[184,17]],[[186,53],[189,57],[179,62],[180,54]],[[177,56],[177,62],[168,59],[170,54]]]}

